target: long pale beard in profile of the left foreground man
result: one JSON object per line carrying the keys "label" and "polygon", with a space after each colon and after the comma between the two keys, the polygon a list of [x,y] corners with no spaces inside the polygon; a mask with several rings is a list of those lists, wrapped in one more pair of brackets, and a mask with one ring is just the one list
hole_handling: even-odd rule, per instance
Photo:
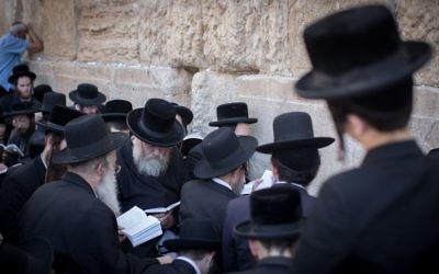
{"label": "long pale beard in profile of the left foreground man", "polygon": [[121,205],[117,199],[116,176],[113,172],[106,172],[101,183],[95,189],[98,197],[104,203],[117,217],[121,215]]}

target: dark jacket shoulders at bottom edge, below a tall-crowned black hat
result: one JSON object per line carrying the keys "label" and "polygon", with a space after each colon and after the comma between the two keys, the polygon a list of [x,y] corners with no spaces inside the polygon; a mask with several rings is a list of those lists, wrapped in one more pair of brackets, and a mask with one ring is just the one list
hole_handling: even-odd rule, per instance
{"label": "dark jacket shoulders at bottom edge, below a tall-crowned black hat", "polygon": [[284,256],[269,256],[262,259],[252,270],[234,272],[233,274],[283,274],[292,273],[293,259]]}

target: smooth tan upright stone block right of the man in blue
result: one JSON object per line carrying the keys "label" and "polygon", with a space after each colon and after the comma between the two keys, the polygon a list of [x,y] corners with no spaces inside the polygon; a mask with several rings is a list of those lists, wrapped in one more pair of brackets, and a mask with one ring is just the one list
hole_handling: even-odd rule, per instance
{"label": "smooth tan upright stone block right of the man in blue", "polygon": [[44,56],[59,59],[76,59],[76,9],[75,1],[46,0],[43,10]]}

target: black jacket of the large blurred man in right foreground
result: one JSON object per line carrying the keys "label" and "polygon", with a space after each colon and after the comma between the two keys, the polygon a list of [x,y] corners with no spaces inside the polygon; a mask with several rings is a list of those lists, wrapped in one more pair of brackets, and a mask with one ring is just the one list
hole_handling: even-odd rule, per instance
{"label": "black jacket of the large blurred man in right foreground", "polygon": [[415,141],[370,150],[324,184],[295,273],[439,273],[438,197],[439,164]]}

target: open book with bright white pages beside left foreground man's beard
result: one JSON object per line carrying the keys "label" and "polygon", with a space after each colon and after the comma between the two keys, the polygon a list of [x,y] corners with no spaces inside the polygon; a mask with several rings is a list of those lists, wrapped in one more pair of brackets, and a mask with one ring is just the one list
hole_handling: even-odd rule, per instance
{"label": "open book with bright white pages beside left foreground man's beard", "polygon": [[124,228],[123,231],[133,247],[137,247],[164,233],[160,221],[154,216],[147,216],[137,206],[133,206],[133,208],[119,216],[117,225]]}

